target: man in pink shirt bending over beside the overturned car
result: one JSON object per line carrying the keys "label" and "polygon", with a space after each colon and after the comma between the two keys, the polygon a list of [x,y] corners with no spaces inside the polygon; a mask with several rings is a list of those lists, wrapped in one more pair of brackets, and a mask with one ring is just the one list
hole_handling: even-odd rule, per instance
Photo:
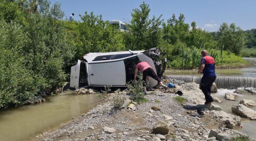
{"label": "man in pink shirt bending over beside the overturned car", "polygon": [[[139,61],[138,64],[136,65],[136,70],[135,70],[135,74],[134,74],[134,80],[136,80],[137,77],[137,73],[138,70],[141,71],[143,73],[143,81],[145,83],[146,79],[149,80],[149,76],[154,78],[154,80],[158,81],[158,83],[161,84],[161,86],[163,87],[163,89],[167,90],[167,86],[163,85],[163,82],[161,81],[161,79],[157,76],[156,72],[154,72],[154,70],[152,69],[152,67],[150,67],[150,65],[148,65],[147,62],[145,61]],[[145,85],[144,85],[145,86]],[[146,87],[144,87],[145,93],[147,92]]]}

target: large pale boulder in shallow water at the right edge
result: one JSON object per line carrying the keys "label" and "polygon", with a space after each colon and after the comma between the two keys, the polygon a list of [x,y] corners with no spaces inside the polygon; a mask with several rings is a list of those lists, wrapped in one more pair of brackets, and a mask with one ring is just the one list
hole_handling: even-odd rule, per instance
{"label": "large pale boulder in shallow water at the right edge", "polygon": [[252,120],[256,119],[256,111],[246,107],[245,105],[233,105],[231,109],[232,112],[239,114],[242,117],[247,117]]}

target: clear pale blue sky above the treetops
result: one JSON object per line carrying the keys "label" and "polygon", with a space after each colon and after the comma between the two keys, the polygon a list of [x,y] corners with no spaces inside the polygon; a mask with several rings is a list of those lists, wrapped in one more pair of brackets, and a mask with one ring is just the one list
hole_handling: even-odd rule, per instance
{"label": "clear pale blue sky above the treetops", "polygon": [[[143,0],[51,0],[62,4],[67,18],[74,13],[74,20],[80,20],[79,14],[85,11],[102,14],[104,20],[129,22],[131,12],[139,8]],[[223,22],[234,22],[243,30],[256,28],[256,0],[145,0],[153,15],[171,18],[172,14],[184,14],[185,22],[195,21],[197,26],[207,31],[217,31]]]}

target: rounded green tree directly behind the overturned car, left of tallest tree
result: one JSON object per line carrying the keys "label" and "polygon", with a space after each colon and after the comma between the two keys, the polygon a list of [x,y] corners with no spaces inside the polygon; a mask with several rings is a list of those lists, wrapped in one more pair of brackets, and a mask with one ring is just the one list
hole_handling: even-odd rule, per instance
{"label": "rounded green tree directly behind the overturned car, left of tallest tree", "polygon": [[76,59],[80,59],[89,52],[123,51],[124,44],[121,31],[108,21],[102,19],[102,15],[95,16],[93,12],[80,15],[81,22],[76,27]]}

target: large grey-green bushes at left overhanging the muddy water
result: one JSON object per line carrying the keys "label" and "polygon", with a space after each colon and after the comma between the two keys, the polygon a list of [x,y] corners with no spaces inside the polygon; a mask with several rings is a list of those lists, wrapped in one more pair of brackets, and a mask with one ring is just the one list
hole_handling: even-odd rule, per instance
{"label": "large grey-green bushes at left overhanging the muddy water", "polygon": [[[73,58],[58,3],[51,7],[48,0],[39,0],[39,12],[26,12],[34,3],[6,1],[6,11],[0,10],[0,108],[16,106],[42,92],[60,87],[67,78],[65,67]],[[0,4],[2,7],[2,3]]]}

